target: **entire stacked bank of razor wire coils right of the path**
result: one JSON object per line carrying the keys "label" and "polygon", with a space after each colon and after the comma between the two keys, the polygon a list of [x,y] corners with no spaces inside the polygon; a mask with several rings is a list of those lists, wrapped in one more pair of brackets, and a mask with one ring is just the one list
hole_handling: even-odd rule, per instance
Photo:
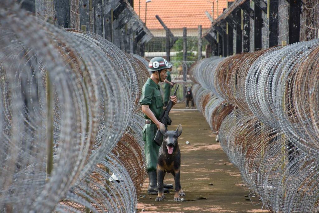
{"label": "entire stacked bank of razor wire coils right of the path", "polygon": [[198,110],[274,212],[319,210],[318,62],[315,39],[204,59],[191,72]]}

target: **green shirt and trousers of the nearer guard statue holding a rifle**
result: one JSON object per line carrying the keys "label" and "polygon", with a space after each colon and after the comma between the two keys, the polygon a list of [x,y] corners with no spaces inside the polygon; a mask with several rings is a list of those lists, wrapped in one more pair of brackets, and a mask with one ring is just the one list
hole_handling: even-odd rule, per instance
{"label": "green shirt and trousers of the nearer guard statue holding a rifle", "polygon": [[[163,98],[160,93],[160,87],[152,79],[147,79],[143,88],[142,96],[139,101],[141,105],[149,105],[150,110],[155,117],[159,119],[160,114],[163,111]],[[145,119],[150,119],[144,115]],[[156,171],[157,158],[159,153],[159,146],[153,141],[157,132],[157,126],[151,122],[145,124],[143,128],[143,140],[145,141],[145,157],[147,163],[147,171]]]}

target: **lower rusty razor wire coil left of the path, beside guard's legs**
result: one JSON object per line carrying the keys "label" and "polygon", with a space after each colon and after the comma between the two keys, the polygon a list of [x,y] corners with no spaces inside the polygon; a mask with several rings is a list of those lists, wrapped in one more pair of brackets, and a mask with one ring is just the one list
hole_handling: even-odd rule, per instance
{"label": "lower rusty razor wire coil left of the path, beside guard's legs", "polygon": [[[112,153],[69,190],[56,211],[134,212],[137,203],[132,200],[139,197],[146,175],[144,142],[140,134],[144,124],[142,113],[134,114],[127,132]],[[111,174],[119,180],[112,179]]]}

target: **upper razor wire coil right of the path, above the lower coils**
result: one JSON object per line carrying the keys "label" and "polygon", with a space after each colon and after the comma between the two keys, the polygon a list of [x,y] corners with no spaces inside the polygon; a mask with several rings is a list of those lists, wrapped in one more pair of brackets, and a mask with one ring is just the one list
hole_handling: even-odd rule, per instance
{"label": "upper razor wire coil right of the path, above the lower coils", "polygon": [[[216,58],[212,57],[211,63],[218,64],[211,70],[214,74],[205,72],[213,65],[203,63],[204,71],[197,67],[193,76],[198,82],[204,81],[204,88],[247,114],[253,113],[274,128],[286,129],[291,140],[315,156],[319,153],[318,44],[318,39],[299,42],[235,55],[220,63],[214,63]],[[204,77],[197,78],[201,72]]]}

